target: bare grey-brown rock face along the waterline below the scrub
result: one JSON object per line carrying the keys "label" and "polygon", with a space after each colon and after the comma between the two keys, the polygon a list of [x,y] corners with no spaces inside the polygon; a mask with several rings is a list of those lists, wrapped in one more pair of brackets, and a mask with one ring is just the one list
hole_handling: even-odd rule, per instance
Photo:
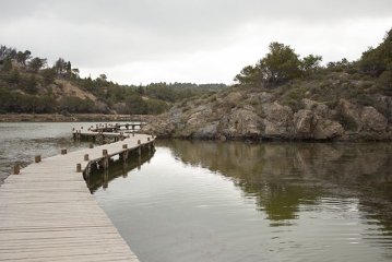
{"label": "bare grey-brown rock face along the waterline below the scrub", "polygon": [[[166,119],[145,131],[161,136],[219,140],[392,140],[389,120],[375,107],[341,99],[333,109],[325,103],[301,100],[301,109],[273,100],[269,93],[234,92],[216,100],[198,99],[183,111],[173,107]],[[389,108],[392,99],[380,97]],[[391,104],[392,105],[392,104]]]}

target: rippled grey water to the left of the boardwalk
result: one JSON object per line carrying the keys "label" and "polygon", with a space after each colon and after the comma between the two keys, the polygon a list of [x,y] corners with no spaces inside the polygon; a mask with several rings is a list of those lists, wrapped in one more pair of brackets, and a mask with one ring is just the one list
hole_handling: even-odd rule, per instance
{"label": "rippled grey water to the left of the boardwalk", "polygon": [[[115,123],[115,122],[112,122]],[[0,122],[0,186],[15,164],[25,167],[34,156],[43,158],[88,147],[90,141],[74,141],[72,128],[88,128],[91,122]]]}

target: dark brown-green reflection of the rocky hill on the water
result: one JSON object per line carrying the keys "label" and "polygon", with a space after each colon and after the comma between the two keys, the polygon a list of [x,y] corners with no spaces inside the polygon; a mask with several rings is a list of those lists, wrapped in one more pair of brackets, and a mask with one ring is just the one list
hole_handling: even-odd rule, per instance
{"label": "dark brown-green reflection of the rocky hill on the water", "polygon": [[[392,218],[392,144],[390,143],[216,143],[159,141],[183,163],[233,179],[243,198],[254,199],[271,226],[290,225],[304,200],[320,204],[325,194],[359,199],[389,228]],[[377,209],[373,209],[378,206]]]}

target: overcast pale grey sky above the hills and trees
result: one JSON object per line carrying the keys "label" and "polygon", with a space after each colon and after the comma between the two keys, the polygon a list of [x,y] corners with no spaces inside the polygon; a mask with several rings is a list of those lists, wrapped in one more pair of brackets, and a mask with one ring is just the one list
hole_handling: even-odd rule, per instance
{"label": "overcast pale grey sky above the hills and trees", "polygon": [[272,41],[356,60],[392,28],[391,0],[2,0],[0,44],[120,84],[233,83]]}

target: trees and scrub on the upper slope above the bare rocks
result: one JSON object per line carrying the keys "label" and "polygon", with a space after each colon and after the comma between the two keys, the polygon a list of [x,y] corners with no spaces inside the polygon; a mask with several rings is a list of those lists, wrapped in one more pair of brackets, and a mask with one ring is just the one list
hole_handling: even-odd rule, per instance
{"label": "trees and scrub on the upper slope above the bare rocks", "polygon": [[271,93],[294,111],[304,106],[302,98],[326,103],[337,110],[338,100],[344,98],[371,105],[392,121],[391,110],[379,103],[381,96],[392,95],[392,29],[377,48],[369,47],[356,61],[343,58],[325,66],[321,61],[316,55],[300,59],[289,46],[272,43],[264,58],[235,76],[231,88]]}

